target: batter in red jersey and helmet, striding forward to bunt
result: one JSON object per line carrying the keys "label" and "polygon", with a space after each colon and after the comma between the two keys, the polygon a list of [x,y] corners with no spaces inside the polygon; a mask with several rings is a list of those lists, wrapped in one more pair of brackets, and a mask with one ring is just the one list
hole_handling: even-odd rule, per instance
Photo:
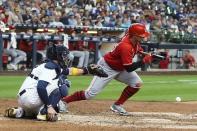
{"label": "batter in red jersey and helmet, striding forward to bunt", "polygon": [[[104,55],[98,61],[104,71],[108,74],[106,78],[94,76],[89,87],[85,91],[77,91],[63,100],[66,103],[79,100],[88,100],[100,93],[104,87],[113,79],[127,84],[121,96],[112,104],[110,109],[120,115],[128,115],[127,111],[121,106],[131,96],[140,90],[142,80],[135,72],[135,69],[145,63],[152,61],[152,56],[145,54],[142,61],[133,62],[133,58],[139,52],[142,52],[140,42],[150,35],[144,25],[136,23],[129,27],[128,31],[122,37],[115,49]],[[116,88],[116,87],[114,87]]]}

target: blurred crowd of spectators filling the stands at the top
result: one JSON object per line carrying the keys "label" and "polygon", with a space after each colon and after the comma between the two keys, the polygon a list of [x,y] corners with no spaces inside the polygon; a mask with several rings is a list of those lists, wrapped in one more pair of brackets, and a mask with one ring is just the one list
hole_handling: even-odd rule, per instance
{"label": "blurred crowd of spectators filling the stands at the top", "polygon": [[[7,27],[16,23],[34,23],[62,28],[65,25],[128,28],[132,23],[139,22],[145,24],[147,30],[152,32],[152,37],[159,42],[169,38],[174,38],[174,42],[177,42],[188,34],[191,36],[188,37],[189,40],[197,38],[197,1],[0,0],[0,22],[1,26]],[[71,35],[76,33],[79,32],[73,31]],[[71,50],[95,49],[87,46],[86,42],[79,41],[77,44],[79,45],[70,47]]]}

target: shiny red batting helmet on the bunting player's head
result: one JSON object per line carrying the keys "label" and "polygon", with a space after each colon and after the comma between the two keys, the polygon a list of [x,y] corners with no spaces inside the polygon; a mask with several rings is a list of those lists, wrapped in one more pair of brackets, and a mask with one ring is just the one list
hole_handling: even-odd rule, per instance
{"label": "shiny red batting helmet on the bunting player's head", "polygon": [[146,30],[145,25],[136,23],[129,27],[129,36],[148,37],[150,33]]}

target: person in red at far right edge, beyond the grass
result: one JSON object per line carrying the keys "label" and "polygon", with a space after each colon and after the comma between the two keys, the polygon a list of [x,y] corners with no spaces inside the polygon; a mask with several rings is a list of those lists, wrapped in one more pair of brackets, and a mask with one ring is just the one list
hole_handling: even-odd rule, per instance
{"label": "person in red at far right edge, beyond the grass", "polygon": [[192,69],[196,67],[196,60],[190,53],[190,50],[185,50],[183,58],[180,60],[180,64],[184,69]]}

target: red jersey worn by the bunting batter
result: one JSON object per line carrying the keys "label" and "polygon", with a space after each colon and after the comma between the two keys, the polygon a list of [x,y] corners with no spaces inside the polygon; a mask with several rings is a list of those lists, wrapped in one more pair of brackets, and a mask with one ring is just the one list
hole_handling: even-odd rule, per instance
{"label": "red jersey worn by the bunting batter", "polygon": [[142,51],[140,44],[133,44],[129,40],[129,36],[126,35],[118,43],[118,45],[111,52],[104,55],[104,59],[107,64],[114,70],[123,71],[124,65],[131,65],[133,63],[133,57]]}

